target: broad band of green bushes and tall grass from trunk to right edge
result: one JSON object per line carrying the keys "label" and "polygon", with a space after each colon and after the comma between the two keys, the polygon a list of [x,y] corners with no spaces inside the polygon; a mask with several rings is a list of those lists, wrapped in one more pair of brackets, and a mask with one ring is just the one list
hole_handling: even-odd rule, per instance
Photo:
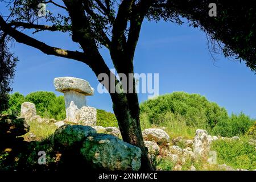
{"label": "broad band of green bushes and tall grass from trunk to right edge", "polygon": [[242,136],[254,122],[243,113],[229,117],[225,108],[199,94],[174,92],[141,104],[142,128],[166,127],[171,137],[192,138],[196,129],[222,137]]}

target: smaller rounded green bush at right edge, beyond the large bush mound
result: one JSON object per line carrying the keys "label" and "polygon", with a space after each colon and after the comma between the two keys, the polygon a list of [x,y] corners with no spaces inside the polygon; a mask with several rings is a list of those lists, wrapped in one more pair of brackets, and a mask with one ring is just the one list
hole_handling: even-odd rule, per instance
{"label": "smaller rounded green bush at right edge, beyond the large bush mound", "polygon": [[217,123],[213,129],[213,134],[222,137],[242,136],[254,125],[254,122],[253,119],[243,113],[232,114],[230,118]]}

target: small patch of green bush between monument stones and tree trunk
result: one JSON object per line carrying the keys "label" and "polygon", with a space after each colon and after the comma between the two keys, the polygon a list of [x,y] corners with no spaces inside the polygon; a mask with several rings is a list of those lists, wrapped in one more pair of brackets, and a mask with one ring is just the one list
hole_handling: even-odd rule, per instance
{"label": "small patch of green bush between monument stones and tree trunk", "polygon": [[97,109],[97,125],[103,127],[118,127],[117,118],[113,113]]}

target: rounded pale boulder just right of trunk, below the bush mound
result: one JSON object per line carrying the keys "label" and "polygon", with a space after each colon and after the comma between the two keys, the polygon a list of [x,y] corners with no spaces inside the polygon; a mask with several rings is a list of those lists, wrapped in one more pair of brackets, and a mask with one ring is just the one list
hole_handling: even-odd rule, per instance
{"label": "rounded pale boulder just right of trunk, below the bush mound", "polygon": [[169,142],[170,137],[162,129],[145,129],[142,131],[143,139],[155,142]]}

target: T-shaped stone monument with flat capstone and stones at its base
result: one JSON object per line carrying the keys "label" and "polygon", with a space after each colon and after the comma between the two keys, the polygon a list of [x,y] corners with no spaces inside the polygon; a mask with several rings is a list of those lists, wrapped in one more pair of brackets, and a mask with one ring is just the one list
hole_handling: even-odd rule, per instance
{"label": "T-shaped stone monument with flat capstone and stones at its base", "polygon": [[55,90],[64,93],[66,121],[80,125],[96,126],[97,110],[86,106],[86,96],[93,96],[94,89],[88,81],[74,77],[54,79]]}

